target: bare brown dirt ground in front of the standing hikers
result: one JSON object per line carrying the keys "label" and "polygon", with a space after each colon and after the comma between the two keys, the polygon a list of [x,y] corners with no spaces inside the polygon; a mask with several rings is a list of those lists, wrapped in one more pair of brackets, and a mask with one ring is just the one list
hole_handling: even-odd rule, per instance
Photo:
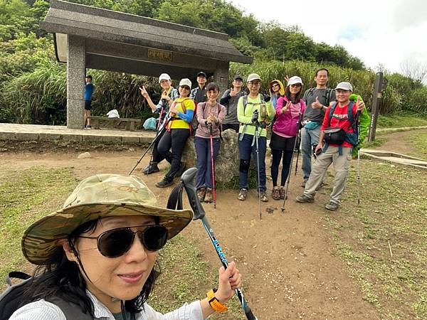
{"label": "bare brown dirt ground in front of the standing hikers", "polygon": [[[139,159],[139,151],[93,151],[91,159],[81,160],[75,152],[0,154],[0,177],[5,171],[32,166],[72,167],[80,178],[100,172],[128,174]],[[147,161],[144,159],[139,169]],[[142,176],[139,170],[135,174]],[[154,186],[162,172],[142,178],[165,204],[172,187]],[[281,213],[280,201],[270,198],[263,203],[263,220],[259,219],[255,191],[250,191],[245,202],[236,199],[236,191],[218,191],[217,208],[205,206],[228,260],[236,260],[243,273],[246,298],[254,314],[260,320],[380,319],[344,272],[344,262],[332,255],[332,235],[325,230],[321,217],[339,212],[329,213],[322,207],[327,200],[325,193],[316,203],[295,203],[293,199],[302,192],[300,180],[300,176],[292,176],[285,213]],[[267,213],[267,208],[273,208],[273,214]],[[199,242],[212,267],[219,267],[201,223],[191,223],[184,235]]]}

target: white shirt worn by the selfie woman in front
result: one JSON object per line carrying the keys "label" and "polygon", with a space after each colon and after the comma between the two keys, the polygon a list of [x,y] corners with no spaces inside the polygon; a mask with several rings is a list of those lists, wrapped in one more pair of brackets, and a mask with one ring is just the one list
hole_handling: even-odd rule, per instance
{"label": "white shirt worn by the selfie woman in front", "polygon": [[[88,297],[93,302],[95,320],[115,320],[111,311],[102,304],[93,294],[86,291]],[[206,318],[208,319],[208,318]],[[36,302],[31,302],[25,306],[21,306],[12,314],[9,320],[67,320],[65,314],[51,302],[44,299]],[[70,319],[68,319],[70,320]],[[201,312],[201,305],[199,301],[191,302],[191,304],[184,304],[181,308],[161,314],[155,311],[148,304],[144,304],[144,311],[135,315],[135,320],[203,320]]]}

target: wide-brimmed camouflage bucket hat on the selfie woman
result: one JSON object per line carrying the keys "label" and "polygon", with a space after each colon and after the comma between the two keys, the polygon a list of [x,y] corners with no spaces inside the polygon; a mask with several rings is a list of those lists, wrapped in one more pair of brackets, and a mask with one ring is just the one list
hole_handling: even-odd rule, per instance
{"label": "wide-brimmed camouflage bucket hat on the selfie woman", "polygon": [[22,238],[22,252],[35,265],[45,265],[60,239],[79,225],[98,218],[149,215],[159,218],[173,238],[191,222],[191,210],[159,208],[154,193],[137,176],[98,174],[81,181],[61,210],[30,225]]}

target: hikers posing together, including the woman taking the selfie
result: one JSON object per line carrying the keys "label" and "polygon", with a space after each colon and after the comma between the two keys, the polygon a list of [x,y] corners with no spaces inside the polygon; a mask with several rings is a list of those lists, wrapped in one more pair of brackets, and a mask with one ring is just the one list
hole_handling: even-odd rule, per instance
{"label": "hikers posing together, including the woman taking the selfie", "polygon": [[[269,82],[270,94],[262,95],[259,75],[252,73],[246,78],[248,92],[243,90],[243,77],[236,75],[233,87],[218,102],[218,85],[206,85],[205,73],[197,75],[199,86],[193,90],[189,79],[182,79],[176,90],[169,75],[163,73],[159,77],[163,92],[157,105],[141,88],[160,119],[152,161],[144,173],[159,171],[157,164],[167,159],[171,167],[157,186],[171,185],[174,176],[184,170],[182,151],[196,127],[197,196],[210,202],[214,190],[211,170],[221,144],[221,127],[233,129],[238,132],[240,155],[238,199],[244,201],[247,196],[252,155],[260,200],[268,201],[265,152],[271,131],[273,199],[287,196],[284,187],[300,137],[305,190],[296,200],[314,201],[316,189],[333,163],[334,188],[326,208],[336,210],[352,149],[366,134],[369,116],[349,82],[339,82],[330,90],[326,87],[328,76],[325,68],[317,70],[317,86],[301,97],[303,83],[298,76],[285,79],[286,87],[280,80]],[[317,156],[313,165],[312,154]],[[283,168],[278,184],[280,161]],[[38,267],[33,277],[0,295],[0,319],[202,320],[226,311],[226,302],[235,291],[243,301],[238,290],[242,275],[235,262],[218,270],[218,286],[204,299],[167,314],[147,304],[160,273],[159,250],[189,225],[193,215],[192,210],[159,206],[154,193],[137,176],[97,174],[83,179],[62,209],[36,220],[24,232],[23,255]],[[242,306],[247,314],[248,306],[243,302]]]}

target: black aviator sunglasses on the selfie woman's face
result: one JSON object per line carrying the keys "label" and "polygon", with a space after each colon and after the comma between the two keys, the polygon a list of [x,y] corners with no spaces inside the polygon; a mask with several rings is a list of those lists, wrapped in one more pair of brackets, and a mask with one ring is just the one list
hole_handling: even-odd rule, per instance
{"label": "black aviator sunglasses on the selfie woman's face", "polygon": [[152,225],[144,231],[132,231],[130,228],[136,227],[108,230],[97,237],[80,235],[78,238],[96,239],[97,248],[105,257],[120,257],[120,255],[124,255],[132,247],[136,233],[139,233],[139,240],[149,251],[160,250],[166,245],[168,231],[162,225]]}

